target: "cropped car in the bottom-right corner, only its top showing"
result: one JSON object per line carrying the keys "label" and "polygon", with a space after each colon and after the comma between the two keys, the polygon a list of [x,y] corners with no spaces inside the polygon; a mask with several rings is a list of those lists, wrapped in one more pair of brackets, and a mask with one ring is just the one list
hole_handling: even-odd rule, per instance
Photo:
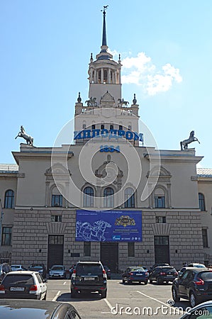
{"label": "cropped car in the bottom-right corner, only its top showing", "polygon": [[212,301],[206,301],[191,308],[179,319],[210,319],[212,318]]}

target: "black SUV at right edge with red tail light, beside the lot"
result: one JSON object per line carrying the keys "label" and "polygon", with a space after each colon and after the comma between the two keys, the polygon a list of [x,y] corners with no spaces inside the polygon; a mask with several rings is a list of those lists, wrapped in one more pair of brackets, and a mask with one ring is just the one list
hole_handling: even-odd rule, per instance
{"label": "black SUV at right edge with red tail light, beside the lot", "polygon": [[212,299],[212,270],[190,268],[174,280],[172,298],[178,302],[180,298],[190,301],[193,308],[198,303]]}

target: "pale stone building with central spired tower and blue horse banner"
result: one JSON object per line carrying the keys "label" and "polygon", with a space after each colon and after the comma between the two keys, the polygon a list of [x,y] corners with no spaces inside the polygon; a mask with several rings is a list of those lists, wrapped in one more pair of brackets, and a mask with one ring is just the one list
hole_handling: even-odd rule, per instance
{"label": "pale stone building with central spired tower and blue horse banner", "polygon": [[[212,172],[196,169],[202,157],[194,148],[145,145],[132,97],[130,104],[122,96],[121,57],[116,62],[108,52],[104,11],[89,99],[84,105],[79,94],[75,104],[73,142],[21,143],[16,164],[0,165],[1,262],[69,267],[101,260],[113,272],[129,264],[212,262]],[[114,218],[113,231],[121,226],[127,235],[108,237],[111,225],[96,223],[95,214]]]}

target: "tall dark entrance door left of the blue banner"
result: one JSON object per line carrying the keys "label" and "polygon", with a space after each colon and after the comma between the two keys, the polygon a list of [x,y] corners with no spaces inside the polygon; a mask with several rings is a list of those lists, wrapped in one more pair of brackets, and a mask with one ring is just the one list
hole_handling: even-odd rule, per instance
{"label": "tall dark entrance door left of the blue banner", "polygon": [[53,264],[63,264],[63,235],[49,235],[48,269]]}

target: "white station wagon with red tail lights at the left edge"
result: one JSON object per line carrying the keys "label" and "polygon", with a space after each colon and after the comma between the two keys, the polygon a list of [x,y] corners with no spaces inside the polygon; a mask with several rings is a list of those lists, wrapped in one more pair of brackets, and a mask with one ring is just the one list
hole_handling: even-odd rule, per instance
{"label": "white station wagon with red tail lights at the left edge", "polygon": [[38,272],[9,272],[0,285],[0,298],[45,299],[46,280]]}

